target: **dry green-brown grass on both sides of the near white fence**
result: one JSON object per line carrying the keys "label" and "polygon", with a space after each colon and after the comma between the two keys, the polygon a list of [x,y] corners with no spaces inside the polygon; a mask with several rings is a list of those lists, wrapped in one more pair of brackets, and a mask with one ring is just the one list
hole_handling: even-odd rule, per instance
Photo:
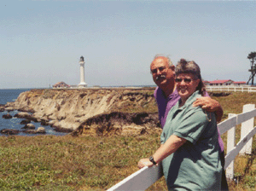
{"label": "dry green-brown grass on both sides of the near white fence", "polygon": [[[255,103],[256,94],[213,98],[224,107],[226,119]],[[130,136],[0,136],[0,190],[105,190],[137,171],[137,161],[159,146],[160,130]],[[251,156],[236,157],[230,190],[256,188],[255,156],[254,141]],[[163,177],[148,188],[166,189]]]}

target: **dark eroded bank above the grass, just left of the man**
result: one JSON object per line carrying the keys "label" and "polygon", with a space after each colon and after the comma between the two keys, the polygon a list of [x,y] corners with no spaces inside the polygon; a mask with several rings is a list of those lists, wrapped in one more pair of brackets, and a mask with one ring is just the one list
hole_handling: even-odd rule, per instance
{"label": "dark eroded bank above the grass, just left of the man", "polygon": [[87,119],[72,136],[143,135],[161,130],[158,113],[108,113]]}

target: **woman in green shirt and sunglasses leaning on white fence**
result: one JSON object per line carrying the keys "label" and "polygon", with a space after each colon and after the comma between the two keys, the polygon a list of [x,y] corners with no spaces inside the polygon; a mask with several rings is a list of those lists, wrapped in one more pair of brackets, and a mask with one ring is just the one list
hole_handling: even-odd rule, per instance
{"label": "woman in green shirt and sunglasses leaning on white fence", "polygon": [[214,113],[192,107],[205,93],[200,68],[194,61],[181,60],[175,69],[181,97],[168,113],[160,136],[161,146],[138,167],[162,162],[169,190],[220,190],[221,161]]}

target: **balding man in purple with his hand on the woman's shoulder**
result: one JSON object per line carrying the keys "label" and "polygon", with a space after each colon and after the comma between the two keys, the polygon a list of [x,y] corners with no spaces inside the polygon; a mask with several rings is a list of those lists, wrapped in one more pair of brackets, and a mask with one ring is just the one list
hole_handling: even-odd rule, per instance
{"label": "balding man in purple with his hand on the woman's shoulder", "polygon": [[[157,102],[160,124],[163,128],[166,124],[166,118],[169,111],[180,98],[176,90],[175,67],[172,65],[172,61],[168,57],[156,55],[154,57],[154,61],[152,61],[150,65],[150,71],[152,73],[154,83],[158,86],[154,90],[154,98]],[[222,107],[218,101],[212,100],[208,95],[197,98],[197,100],[193,103],[193,106],[201,106],[208,112],[214,112],[218,122],[222,118]],[[218,144],[223,165],[222,190],[228,190],[229,188],[224,172],[224,143],[220,136],[218,136]]]}

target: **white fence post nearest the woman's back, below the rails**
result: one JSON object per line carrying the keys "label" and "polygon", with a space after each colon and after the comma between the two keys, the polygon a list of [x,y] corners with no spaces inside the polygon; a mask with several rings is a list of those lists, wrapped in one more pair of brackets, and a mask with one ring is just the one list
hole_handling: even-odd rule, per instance
{"label": "white fence post nearest the woman's back, below the rails", "polygon": [[[234,117],[236,114],[229,113],[229,119]],[[228,130],[228,137],[227,137],[227,153],[230,152],[236,145],[236,126],[230,128]],[[226,177],[227,179],[232,180],[234,178],[234,160],[230,163],[230,165],[226,168]]]}

